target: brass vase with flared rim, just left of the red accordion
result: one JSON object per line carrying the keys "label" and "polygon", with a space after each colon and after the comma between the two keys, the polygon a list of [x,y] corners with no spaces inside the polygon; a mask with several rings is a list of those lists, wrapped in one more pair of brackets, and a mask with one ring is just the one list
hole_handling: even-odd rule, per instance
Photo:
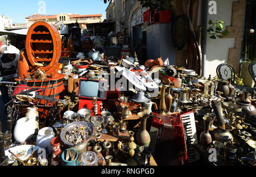
{"label": "brass vase with flared rim, just left of the red accordion", "polygon": [[148,147],[150,144],[150,134],[146,130],[146,123],[149,115],[146,112],[139,112],[138,116],[141,118],[141,129],[138,130],[136,139],[139,146]]}

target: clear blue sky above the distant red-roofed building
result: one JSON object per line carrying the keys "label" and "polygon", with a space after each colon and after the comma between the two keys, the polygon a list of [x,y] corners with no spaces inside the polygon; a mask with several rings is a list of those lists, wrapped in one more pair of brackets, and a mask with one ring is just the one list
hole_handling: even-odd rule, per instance
{"label": "clear blue sky above the distant red-roofed building", "polygon": [[[41,0],[1,0],[0,14],[13,19],[13,23],[25,22],[26,16],[38,14]],[[108,3],[102,0],[44,0],[46,14],[72,13],[79,15],[102,14],[106,18]]]}

